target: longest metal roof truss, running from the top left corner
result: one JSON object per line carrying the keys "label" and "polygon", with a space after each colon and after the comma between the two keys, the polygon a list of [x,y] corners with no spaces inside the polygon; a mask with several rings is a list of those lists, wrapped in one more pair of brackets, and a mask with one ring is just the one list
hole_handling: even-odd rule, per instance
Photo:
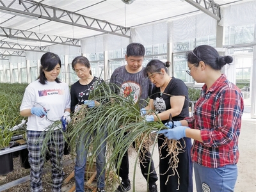
{"label": "longest metal roof truss, running from the top left corner", "polygon": [[[67,10],[61,10],[52,6],[47,6],[42,3],[38,3],[32,0],[20,0],[19,1],[0,1],[0,10],[5,10],[12,13],[19,13],[23,15],[29,15],[38,17],[40,19],[52,20],[55,22],[61,22],[63,24],[69,24],[80,28],[91,29],[94,31],[100,31],[102,33],[111,33],[112,35],[125,36],[130,38],[130,28],[124,26],[118,26],[111,24],[106,20],[94,19],[92,17],[86,17],[75,12],[69,12]],[[20,7],[19,10],[17,7]],[[14,8],[13,8],[14,7]]]}

